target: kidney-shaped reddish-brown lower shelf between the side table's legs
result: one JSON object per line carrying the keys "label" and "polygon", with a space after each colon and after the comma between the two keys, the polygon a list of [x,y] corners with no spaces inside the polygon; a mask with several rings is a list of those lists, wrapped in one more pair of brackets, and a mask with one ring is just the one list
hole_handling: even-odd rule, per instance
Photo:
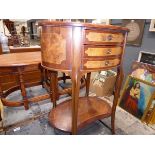
{"label": "kidney-shaped reddish-brown lower shelf between the side table's legs", "polygon": [[[71,132],[72,130],[72,100],[65,101],[52,109],[49,114],[50,124],[62,131]],[[81,97],[78,105],[78,130],[87,124],[98,119],[111,116],[111,106],[97,97]]]}

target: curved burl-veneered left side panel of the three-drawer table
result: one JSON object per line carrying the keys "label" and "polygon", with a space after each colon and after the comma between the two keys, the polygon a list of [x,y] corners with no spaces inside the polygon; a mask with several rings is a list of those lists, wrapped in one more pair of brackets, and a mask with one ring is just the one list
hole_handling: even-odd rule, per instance
{"label": "curved burl-veneered left side panel of the three-drawer table", "polygon": [[[71,40],[67,36],[71,32],[71,28],[46,27],[42,31],[41,50],[44,51],[44,54],[42,54],[42,64],[68,69],[71,50],[67,47],[71,46]],[[66,50],[68,51],[67,53]]]}

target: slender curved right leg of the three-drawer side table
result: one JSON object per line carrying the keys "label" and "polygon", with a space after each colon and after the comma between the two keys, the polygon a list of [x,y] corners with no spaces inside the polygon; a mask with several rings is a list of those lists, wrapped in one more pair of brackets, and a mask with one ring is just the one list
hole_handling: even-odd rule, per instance
{"label": "slender curved right leg of the three-drawer side table", "polygon": [[118,67],[115,91],[114,91],[114,101],[113,101],[112,114],[111,114],[111,132],[112,132],[112,134],[115,134],[115,112],[116,112],[116,106],[118,103],[118,99],[120,96],[122,82],[123,82],[123,69],[122,69],[122,67]]}

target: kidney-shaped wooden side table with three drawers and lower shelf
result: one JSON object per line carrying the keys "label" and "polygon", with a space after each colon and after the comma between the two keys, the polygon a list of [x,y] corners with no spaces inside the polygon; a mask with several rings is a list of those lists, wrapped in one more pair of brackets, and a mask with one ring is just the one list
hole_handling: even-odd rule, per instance
{"label": "kidney-shaped wooden side table with three drawers and lower shelf", "polygon": [[[51,72],[51,98],[56,105],[57,72],[70,75],[72,99],[53,108],[49,115],[51,125],[62,131],[77,134],[85,125],[111,116],[112,133],[115,133],[115,110],[123,81],[122,60],[128,29],[101,24],[42,21],[42,66]],[[114,102],[89,97],[92,71],[117,68]],[[79,98],[79,84],[87,74],[86,96]]]}

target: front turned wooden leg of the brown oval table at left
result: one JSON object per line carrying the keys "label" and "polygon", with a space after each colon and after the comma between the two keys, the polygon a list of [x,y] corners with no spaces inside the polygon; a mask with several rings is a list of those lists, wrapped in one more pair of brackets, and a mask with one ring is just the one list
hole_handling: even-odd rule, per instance
{"label": "front turned wooden leg of the brown oval table at left", "polygon": [[29,109],[28,98],[27,98],[27,94],[26,94],[26,88],[24,85],[23,72],[20,67],[18,68],[18,74],[19,74],[19,83],[20,83],[21,94],[23,97],[24,107],[25,107],[25,110],[28,110]]}

